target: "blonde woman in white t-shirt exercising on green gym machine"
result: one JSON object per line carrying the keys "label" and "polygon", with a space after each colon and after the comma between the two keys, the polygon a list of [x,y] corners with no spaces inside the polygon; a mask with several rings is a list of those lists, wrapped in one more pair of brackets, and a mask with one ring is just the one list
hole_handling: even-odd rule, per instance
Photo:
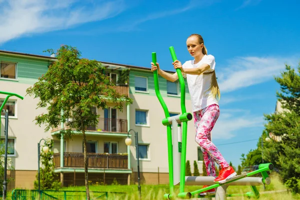
{"label": "blonde woman in white t-shirt exercising on green gym machine", "polygon": [[[218,99],[220,91],[215,76],[215,61],[213,55],[207,55],[207,50],[201,35],[191,34],[186,40],[187,50],[193,57],[181,64],[172,62],[175,69],[179,68],[186,78],[191,96],[194,126],[196,130],[195,141],[201,147],[203,159],[208,176],[216,176],[214,161],[221,166],[219,175],[214,179],[220,183],[236,175],[236,172],[223,158],[217,147],[211,142],[210,132],[219,116]],[[158,74],[169,81],[178,79],[177,73],[167,73],[151,62],[151,70],[158,70]],[[207,187],[204,185],[203,187]],[[215,189],[208,190],[215,192]],[[205,194],[206,192],[203,192]]]}

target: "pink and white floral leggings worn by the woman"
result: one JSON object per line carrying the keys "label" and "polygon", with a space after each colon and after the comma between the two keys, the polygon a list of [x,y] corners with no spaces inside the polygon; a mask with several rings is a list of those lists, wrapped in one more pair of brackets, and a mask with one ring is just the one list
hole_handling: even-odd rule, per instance
{"label": "pink and white floral leggings worn by the woman", "polygon": [[221,155],[220,151],[211,142],[210,131],[212,130],[220,110],[217,104],[209,105],[201,110],[193,112],[196,129],[195,141],[200,145],[208,176],[215,176],[214,161],[226,168],[229,164]]}

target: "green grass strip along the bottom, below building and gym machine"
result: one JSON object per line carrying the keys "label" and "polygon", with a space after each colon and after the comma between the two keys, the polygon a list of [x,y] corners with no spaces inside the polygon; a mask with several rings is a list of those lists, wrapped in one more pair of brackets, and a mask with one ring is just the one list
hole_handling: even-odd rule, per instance
{"label": "green grass strip along the bottom, below building and gym machine", "polygon": [[[185,191],[194,191],[196,189],[200,189],[202,186],[185,186]],[[293,195],[286,190],[286,187],[280,182],[279,176],[275,173],[271,175],[271,183],[269,185],[265,185],[265,189],[263,185],[257,186],[257,189],[260,192],[260,198],[262,200],[289,200],[289,199],[300,199],[300,194]],[[85,191],[84,186],[70,186],[70,187],[63,187],[61,190],[68,190],[66,194],[67,199],[79,200],[85,199],[84,194],[85,192],[73,192],[73,191]],[[137,185],[90,185],[90,191],[97,191],[90,192],[91,199],[92,197],[95,198],[99,196],[100,191],[108,191],[108,192],[125,192],[127,195],[124,197],[111,197],[108,199],[114,200],[137,200],[138,199],[138,190]],[[178,192],[179,186],[175,186],[175,191]],[[276,190],[285,190],[283,192],[274,192]],[[246,193],[251,191],[250,186],[229,186],[227,188],[227,193]],[[141,185],[141,199],[142,200],[156,200],[156,199],[163,199],[163,194],[169,192],[169,185],[166,184],[159,184],[159,185]],[[10,192],[11,193],[11,192]],[[50,192],[46,192],[48,194],[54,194]],[[58,193],[56,193],[57,196]],[[62,195],[62,192],[59,193]],[[58,196],[57,196],[58,197]],[[62,196],[59,196],[60,199]],[[104,199],[104,198],[102,198]],[[195,199],[195,198],[193,198]],[[201,199],[201,198],[199,198]],[[247,199],[246,197],[227,197],[227,199]]]}

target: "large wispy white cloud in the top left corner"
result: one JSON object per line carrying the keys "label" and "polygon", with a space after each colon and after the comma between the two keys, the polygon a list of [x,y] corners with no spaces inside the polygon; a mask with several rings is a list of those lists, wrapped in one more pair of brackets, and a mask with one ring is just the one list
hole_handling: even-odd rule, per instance
{"label": "large wispy white cloud in the top left corner", "polygon": [[123,0],[0,0],[0,43],[107,19],[124,9]]}

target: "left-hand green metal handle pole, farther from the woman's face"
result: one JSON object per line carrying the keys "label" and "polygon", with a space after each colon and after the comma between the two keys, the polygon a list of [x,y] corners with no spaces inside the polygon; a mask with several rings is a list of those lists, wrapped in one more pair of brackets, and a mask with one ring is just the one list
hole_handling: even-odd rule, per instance
{"label": "left-hand green metal handle pole, farther from the woman's face", "polygon": [[[152,52],[152,62],[156,65],[156,52]],[[165,118],[169,117],[168,108],[159,92],[159,85],[158,85],[158,72],[157,70],[153,71],[153,78],[154,78],[154,87],[156,96],[162,106],[164,111]],[[166,135],[167,135],[167,155],[168,155],[168,168],[169,168],[169,186],[170,186],[170,194],[172,195],[174,192],[174,185],[173,185],[173,146],[172,146],[172,129],[171,125],[166,125]]]}

